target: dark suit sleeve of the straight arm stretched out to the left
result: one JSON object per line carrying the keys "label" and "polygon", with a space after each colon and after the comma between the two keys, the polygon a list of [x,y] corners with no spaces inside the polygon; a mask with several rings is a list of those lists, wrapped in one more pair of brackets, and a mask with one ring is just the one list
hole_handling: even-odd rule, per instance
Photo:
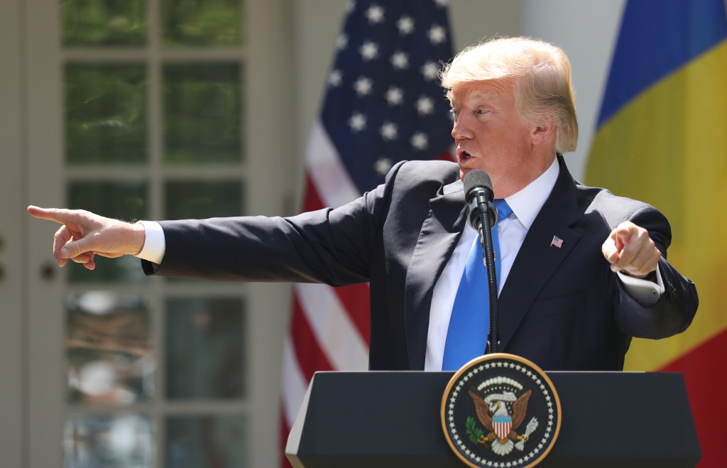
{"label": "dark suit sleeve of the straight arm stretched out to the left", "polygon": [[161,221],[166,250],[145,273],[218,281],[293,281],[348,286],[369,281],[372,238],[391,179],[356,201],[294,217]]}

